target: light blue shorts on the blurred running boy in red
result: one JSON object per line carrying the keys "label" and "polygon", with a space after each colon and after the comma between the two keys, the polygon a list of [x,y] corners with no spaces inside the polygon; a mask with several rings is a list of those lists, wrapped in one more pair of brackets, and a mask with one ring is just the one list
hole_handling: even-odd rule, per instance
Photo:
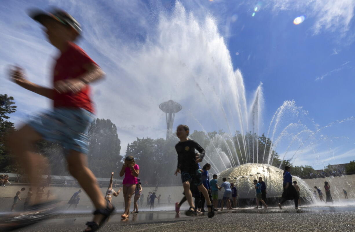
{"label": "light blue shorts on the blurred running boy in red", "polygon": [[89,137],[87,135],[94,115],[82,108],[55,108],[54,111],[35,117],[28,123],[45,140],[60,143],[65,151],[79,151],[87,154]]}

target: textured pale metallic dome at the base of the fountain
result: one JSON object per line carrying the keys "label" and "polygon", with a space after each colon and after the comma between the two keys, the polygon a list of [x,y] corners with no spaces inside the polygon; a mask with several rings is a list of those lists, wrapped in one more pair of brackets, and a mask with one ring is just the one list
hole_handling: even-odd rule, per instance
{"label": "textured pale metallic dome at the base of the fountain", "polygon": [[[223,183],[222,178],[226,177],[228,182],[236,184],[239,199],[251,199],[255,198],[253,180],[262,177],[267,186],[267,198],[279,198],[283,192],[283,172],[282,169],[266,164],[242,164],[219,173],[218,186]],[[310,187],[302,179],[293,176],[292,180],[297,181],[301,198],[312,199]],[[222,199],[223,192],[219,191],[218,199]]]}

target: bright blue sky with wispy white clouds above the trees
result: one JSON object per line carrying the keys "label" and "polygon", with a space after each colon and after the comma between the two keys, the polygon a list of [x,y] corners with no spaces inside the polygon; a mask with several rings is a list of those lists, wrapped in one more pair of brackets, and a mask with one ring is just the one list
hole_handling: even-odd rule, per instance
{"label": "bright blue sky with wispy white clouds above the trees", "polygon": [[[26,15],[29,7],[50,6],[67,10],[83,25],[79,44],[107,73],[94,84],[93,98],[97,116],[118,127],[121,154],[136,137],[165,137],[158,105],[170,95],[183,106],[175,125],[251,130],[245,112],[262,82],[259,134],[267,134],[284,101],[294,100],[270,127],[280,155],[288,150],[285,158],[296,154],[296,165],[316,168],[354,159],[352,118],[312,135],[355,116],[354,1],[5,1],[0,93],[15,97],[17,126],[51,106],[6,76],[8,65],[17,63],[31,81],[51,85],[56,50]],[[301,15],[305,20],[295,25]]]}

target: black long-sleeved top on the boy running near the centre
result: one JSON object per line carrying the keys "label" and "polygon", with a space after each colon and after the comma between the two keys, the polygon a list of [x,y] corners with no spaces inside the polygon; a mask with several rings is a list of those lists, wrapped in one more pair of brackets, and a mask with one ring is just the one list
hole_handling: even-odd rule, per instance
{"label": "black long-sleeved top on the boy running near the centre", "polygon": [[198,169],[195,149],[201,154],[201,159],[203,159],[205,155],[204,149],[192,139],[179,142],[175,145],[175,149],[178,153],[178,169],[182,172],[195,171]]}

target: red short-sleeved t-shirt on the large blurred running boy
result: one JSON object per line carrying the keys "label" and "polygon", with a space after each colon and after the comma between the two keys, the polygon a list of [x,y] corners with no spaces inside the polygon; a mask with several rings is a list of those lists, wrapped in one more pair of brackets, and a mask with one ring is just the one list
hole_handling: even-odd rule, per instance
{"label": "red short-sleeved t-shirt on the large blurred running boy", "polygon": [[[81,76],[86,69],[84,65],[96,64],[78,45],[69,42],[67,50],[56,60],[53,83],[63,79],[71,79]],[[58,93],[54,91],[54,107],[83,108],[94,112],[90,99],[90,87],[87,85],[78,93]]]}

